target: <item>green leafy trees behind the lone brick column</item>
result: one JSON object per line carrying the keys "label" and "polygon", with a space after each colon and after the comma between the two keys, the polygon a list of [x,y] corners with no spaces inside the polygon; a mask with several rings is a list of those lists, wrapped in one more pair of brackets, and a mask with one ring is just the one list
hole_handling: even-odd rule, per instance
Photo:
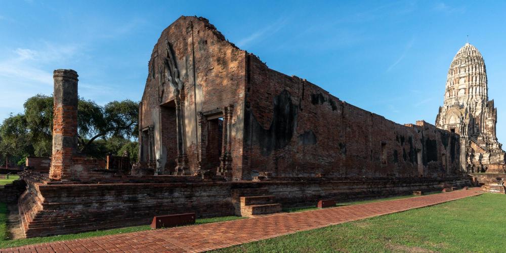
{"label": "green leafy trees behind the lone brick column", "polygon": [[[79,98],[78,145],[90,157],[103,158],[131,147],[137,138],[139,104],[131,100],[100,106]],[[24,103],[24,114],[10,115],[0,126],[0,157],[19,161],[26,156],[50,156],[52,151],[53,97],[36,95]],[[124,148],[128,149],[128,148]],[[137,156],[137,152],[135,154]]]}

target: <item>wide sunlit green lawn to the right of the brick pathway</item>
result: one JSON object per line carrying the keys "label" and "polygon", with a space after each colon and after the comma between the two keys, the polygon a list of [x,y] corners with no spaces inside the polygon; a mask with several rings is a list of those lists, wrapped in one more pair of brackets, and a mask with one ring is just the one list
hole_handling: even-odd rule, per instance
{"label": "wide sunlit green lawn to the right of the brick pathway", "polygon": [[506,195],[486,193],[219,252],[503,252]]}

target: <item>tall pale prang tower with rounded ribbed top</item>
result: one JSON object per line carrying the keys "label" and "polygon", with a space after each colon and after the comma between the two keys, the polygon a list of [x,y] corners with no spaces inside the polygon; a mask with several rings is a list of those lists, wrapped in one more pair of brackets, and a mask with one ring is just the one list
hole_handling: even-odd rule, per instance
{"label": "tall pale prang tower with rounded ribbed top", "polygon": [[457,52],[446,79],[436,126],[460,135],[461,170],[504,172],[504,151],[497,141],[497,109],[488,100],[487,71],[480,52],[466,43]]}

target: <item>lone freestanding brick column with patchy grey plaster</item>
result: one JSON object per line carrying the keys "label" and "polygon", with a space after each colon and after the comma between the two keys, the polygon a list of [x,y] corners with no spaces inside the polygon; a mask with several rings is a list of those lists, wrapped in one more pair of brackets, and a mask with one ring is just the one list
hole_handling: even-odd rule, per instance
{"label": "lone freestanding brick column with patchy grey plaster", "polygon": [[77,72],[54,71],[53,156],[49,177],[70,180],[72,156],[77,153]]}

